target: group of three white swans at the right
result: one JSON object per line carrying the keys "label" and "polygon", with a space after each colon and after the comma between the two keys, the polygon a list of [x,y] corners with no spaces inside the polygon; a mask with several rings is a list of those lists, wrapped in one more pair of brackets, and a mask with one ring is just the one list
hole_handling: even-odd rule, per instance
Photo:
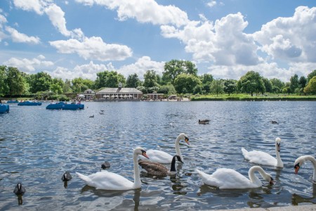
{"label": "group of three white swans at the right", "polygon": [[[279,139],[278,137],[277,139],[275,139],[276,158],[272,157],[271,155],[263,151],[249,152],[246,151],[244,148],[242,148],[242,155],[244,155],[244,158],[246,158],[246,160],[249,160],[250,162],[258,163],[261,165],[284,167],[279,155],[280,146],[281,139]],[[300,169],[301,165],[303,165],[303,162],[305,162],[306,160],[310,160],[312,162],[312,165],[314,167],[312,180],[316,182],[316,159],[310,155],[303,155],[296,159],[296,161],[294,162],[295,174],[298,173],[298,170]],[[196,170],[196,172],[202,178],[204,184],[207,184],[209,186],[216,186],[220,189],[261,187],[262,183],[260,179],[258,179],[258,177],[256,176],[255,172],[259,172],[259,174],[261,174],[261,177],[263,177],[265,181],[268,181],[270,184],[273,184],[273,179],[271,175],[266,173],[263,170],[263,168],[259,166],[253,166],[249,169],[249,179],[244,177],[239,172],[236,172],[235,170],[225,168],[220,168],[216,170],[216,172],[214,172],[213,174],[206,174],[201,170]]]}

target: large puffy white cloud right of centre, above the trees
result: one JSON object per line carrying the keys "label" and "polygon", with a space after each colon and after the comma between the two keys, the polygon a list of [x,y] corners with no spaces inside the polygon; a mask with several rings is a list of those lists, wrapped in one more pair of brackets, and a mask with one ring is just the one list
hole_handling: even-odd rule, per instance
{"label": "large puffy white cloud right of centre, above the trees", "polygon": [[227,15],[213,24],[207,20],[191,21],[183,29],[163,25],[162,36],[177,38],[185,51],[193,53],[198,62],[216,65],[256,65],[261,63],[251,34],[244,33],[248,25],[241,13]]}

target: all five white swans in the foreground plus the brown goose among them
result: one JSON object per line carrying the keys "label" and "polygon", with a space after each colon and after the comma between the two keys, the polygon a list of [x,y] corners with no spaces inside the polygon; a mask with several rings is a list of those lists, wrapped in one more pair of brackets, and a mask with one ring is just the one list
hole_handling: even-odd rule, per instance
{"label": "all five white swans in the foreground plus the brown goose among them", "polygon": [[[183,156],[180,152],[179,142],[180,140],[185,140],[187,144],[189,139],[185,134],[179,134],[175,146],[176,146],[176,155],[172,156],[164,151],[157,150],[148,150],[147,152],[141,148],[137,147],[133,150],[133,172],[134,172],[134,181],[130,181],[125,177],[122,177],[119,174],[112,172],[101,171],[89,176],[80,174],[77,175],[83,179],[88,186],[93,186],[97,189],[104,190],[117,190],[124,191],[130,189],[136,189],[141,187],[140,181],[140,171],[138,165],[143,167],[148,174],[165,177],[167,175],[176,174],[175,163],[176,160],[183,162]],[[261,165],[272,165],[275,167],[283,167],[283,162],[280,158],[281,139],[275,139],[275,152],[276,158],[273,158],[268,153],[262,151],[246,151],[242,148],[242,154],[244,158],[250,162],[255,162]],[[140,160],[138,161],[138,158]],[[150,159],[150,160],[148,160]],[[310,160],[314,166],[314,174],[312,177],[313,181],[316,181],[316,159],[310,155],[304,155],[296,159],[294,164],[295,173],[298,173],[298,170],[303,165],[303,162]],[[169,171],[163,164],[171,163],[171,170]],[[224,188],[258,188],[262,186],[261,180],[258,179],[255,172],[261,174],[261,177],[268,181],[270,184],[273,184],[273,179],[270,174],[265,172],[262,167],[253,166],[249,169],[249,179],[244,177],[244,175],[236,172],[235,170],[220,168],[216,170],[213,174],[206,174],[201,170],[196,170],[199,176],[202,178],[204,184],[210,186],[217,186],[220,189]]]}

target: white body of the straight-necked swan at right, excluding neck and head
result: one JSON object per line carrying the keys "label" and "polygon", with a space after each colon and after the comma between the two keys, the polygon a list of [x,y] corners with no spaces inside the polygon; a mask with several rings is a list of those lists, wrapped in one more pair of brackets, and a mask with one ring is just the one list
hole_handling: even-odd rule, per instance
{"label": "white body of the straight-necked swan at right, excluding neck and head", "polygon": [[242,150],[242,154],[244,155],[244,158],[246,158],[250,162],[258,163],[261,165],[277,165],[277,159],[273,158],[271,155],[263,151],[245,152]]}

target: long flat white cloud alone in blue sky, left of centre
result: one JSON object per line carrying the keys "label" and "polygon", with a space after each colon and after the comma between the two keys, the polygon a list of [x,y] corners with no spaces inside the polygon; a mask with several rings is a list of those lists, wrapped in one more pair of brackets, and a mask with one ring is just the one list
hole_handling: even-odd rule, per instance
{"label": "long flat white cloud alone in blue sky, left of centre", "polygon": [[84,41],[68,39],[49,43],[60,53],[77,53],[86,60],[124,60],[132,56],[128,46],[106,44],[101,37],[85,37]]}

